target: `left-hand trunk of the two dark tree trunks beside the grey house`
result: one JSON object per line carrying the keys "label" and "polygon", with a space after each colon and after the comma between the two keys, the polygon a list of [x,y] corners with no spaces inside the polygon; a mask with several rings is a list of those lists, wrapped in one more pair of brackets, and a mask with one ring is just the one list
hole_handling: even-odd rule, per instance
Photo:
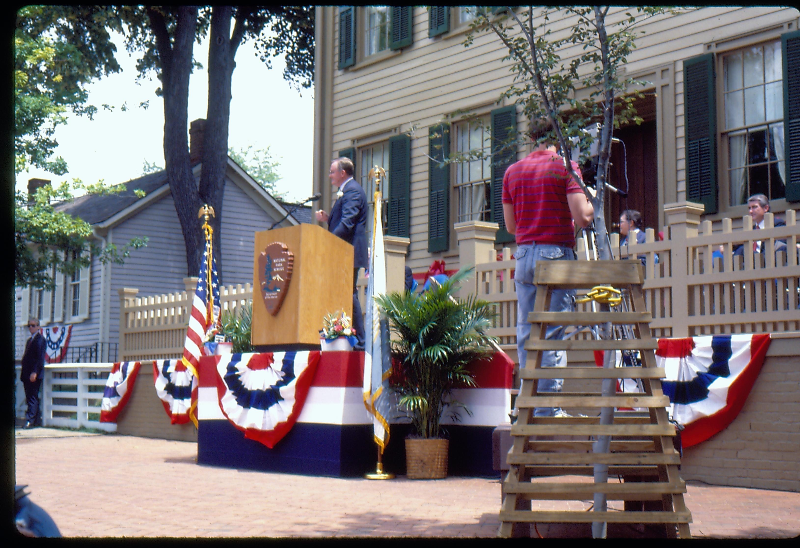
{"label": "left-hand trunk of the two dark tree trunks beside the grey house", "polygon": [[[203,250],[202,223],[198,222],[198,210],[202,202],[189,162],[187,131],[189,75],[197,16],[196,6],[179,7],[174,44],[170,47],[169,37],[166,38],[166,45],[163,40],[159,41],[164,98],[164,162],[186,243],[186,274],[189,276],[198,275]],[[166,33],[163,20],[157,19],[154,14],[150,19],[157,38],[163,36]]]}

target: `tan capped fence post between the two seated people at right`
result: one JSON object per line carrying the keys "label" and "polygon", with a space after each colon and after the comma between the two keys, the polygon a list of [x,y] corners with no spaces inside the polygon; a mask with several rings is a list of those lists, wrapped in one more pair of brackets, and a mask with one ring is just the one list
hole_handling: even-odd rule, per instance
{"label": "tan capped fence post between the two seated people at right", "polygon": [[672,336],[689,337],[689,313],[694,310],[689,291],[689,238],[698,237],[702,204],[674,202],[664,205],[664,218],[672,246]]}

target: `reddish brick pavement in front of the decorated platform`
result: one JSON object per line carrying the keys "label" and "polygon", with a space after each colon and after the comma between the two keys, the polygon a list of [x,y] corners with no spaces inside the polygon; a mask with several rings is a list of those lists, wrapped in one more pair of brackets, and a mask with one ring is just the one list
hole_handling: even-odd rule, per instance
{"label": "reddish brick pavement in front of the decorated platform", "polygon": [[[30,486],[66,537],[494,537],[498,530],[494,479],[270,474],[198,466],[190,442],[64,436],[18,436],[16,481]],[[696,537],[800,534],[798,493],[688,484]]]}

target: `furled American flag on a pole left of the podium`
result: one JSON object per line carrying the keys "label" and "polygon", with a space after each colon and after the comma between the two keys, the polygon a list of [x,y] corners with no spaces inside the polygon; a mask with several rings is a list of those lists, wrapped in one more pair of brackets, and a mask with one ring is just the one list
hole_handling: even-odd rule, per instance
{"label": "furled American flag on a pole left of the podium", "polygon": [[[192,406],[190,418],[194,426],[197,422],[197,394],[198,394],[198,369],[200,356],[206,355],[203,342],[207,333],[219,325],[219,283],[217,276],[217,259],[211,249],[211,239],[206,238],[206,249],[202,255],[202,265],[198,274],[197,289],[194,290],[194,301],[189,317],[189,327],[186,329],[186,342],[183,343],[183,358],[176,366],[176,371],[186,368],[194,379],[192,380]],[[208,258],[211,257],[211,270],[208,268]],[[211,299],[208,288],[211,287]]]}

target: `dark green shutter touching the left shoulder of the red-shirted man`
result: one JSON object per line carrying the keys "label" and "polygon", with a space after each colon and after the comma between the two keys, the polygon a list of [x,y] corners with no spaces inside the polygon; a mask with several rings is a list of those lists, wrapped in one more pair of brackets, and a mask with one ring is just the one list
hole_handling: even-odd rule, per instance
{"label": "dark green shutter touching the left shoulder of the red-shirted man", "polygon": [[502,216],[502,178],[508,166],[517,161],[517,146],[504,143],[507,138],[517,133],[517,107],[512,105],[492,110],[490,123],[492,126],[492,182],[489,194],[491,221],[500,225],[494,242],[514,242],[514,235],[506,230],[506,221]]}

